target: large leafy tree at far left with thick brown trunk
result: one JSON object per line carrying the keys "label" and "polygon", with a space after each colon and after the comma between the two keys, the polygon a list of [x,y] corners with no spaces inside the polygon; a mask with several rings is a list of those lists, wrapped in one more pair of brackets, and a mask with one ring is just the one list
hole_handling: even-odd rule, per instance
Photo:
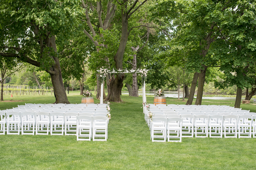
{"label": "large leafy tree at far left with thick brown trunk", "polygon": [[[14,1],[0,4],[0,47],[4,57],[16,57],[50,74],[55,103],[69,103],[65,93],[57,42],[61,44],[77,25],[77,1]],[[8,43],[8,44],[7,44]]]}

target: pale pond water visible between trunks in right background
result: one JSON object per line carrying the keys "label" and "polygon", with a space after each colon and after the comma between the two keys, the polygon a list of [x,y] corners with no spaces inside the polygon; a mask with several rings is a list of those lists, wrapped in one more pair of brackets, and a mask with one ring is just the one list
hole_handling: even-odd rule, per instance
{"label": "pale pond water visible between trunks in right background", "polygon": [[[128,91],[122,91],[122,94],[128,94]],[[142,95],[142,91],[139,91],[139,95]],[[155,91],[146,91],[146,95],[155,95]],[[183,93],[180,92],[180,98],[182,99]],[[171,97],[171,98],[178,98],[178,92],[176,91],[165,91],[165,96],[166,97]],[[196,98],[196,97],[194,97]],[[236,101],[236,98],[229,98],[229,97],[203,97],[203,99],[213,99],[213,100],[233,100]],[[245,98],[242,98],[244,100]],[[253,102],[253,98],[251,99],[251,102]]]}

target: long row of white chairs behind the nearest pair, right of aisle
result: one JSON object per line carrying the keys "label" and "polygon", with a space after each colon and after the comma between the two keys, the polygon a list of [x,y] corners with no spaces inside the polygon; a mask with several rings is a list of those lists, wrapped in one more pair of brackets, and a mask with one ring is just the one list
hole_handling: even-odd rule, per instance
{"label": "long row of white chairs behind the nearest pair, right of aisle", "polygon": [[[251,138],[251,132],[253,129],[253,137],[255,137],[255,121],[253,119],[256,118],[256,116],[251,115],[172,115],[173,117],[167,117],[162,115],[156,115],[158,118],[183,118],[183,127],[189,127],[188,134],[191,134],[189,136],[183,136],[181,137],[193,137],[193,128],[195,128],[195,137],[208,137],[208,131],[210,133],[210,137],[219,137],[222,138],[222,133],[224,130],[224,137],[225,138],[237,138],[237,129],[238,129],[238,138]],[[190,120],[189,120],[190,119]],[[251,119],[251,121],[245,122],[244,119]],[[154,122],[153,117],[153,122]],[[151,126],[153,125],[153,122],[151,123]],[[157,122],[156,122],[157,124]],[[159,124],[159,122],[158,122]],[[161,123],[160,123],[161,124]],[[197,129],[197,127],[200,127],[200,129]],[[252,128],[253,127],[253,128]],[[191,133],[190,133],[191,128]],[[184,128],[183,128],[184,129]],[[198,132],[200,130],[201,132]],[[248,132],[246,130],[249,130]],[[152,137],[152,131],[154,129],[151,129],[151,137]],[[214,131],[214,132],[212,132]],[[162,132],[162,131],[161,131]],[[217,133],[218,132],[218,133]],[[181,131],[182,133],[182,131]],[[187,132],[184,132],[187,133]],[[198,136],[197,134],[204,134],[205,136]],[[219,136],[212,136],[212,134],[219,135]],[[231,134],[233,136],[227,136],[227,134]],[[246,136],[241,136],[241,134],[244,134]],[[178,135],[178,133],[177,133]]]}

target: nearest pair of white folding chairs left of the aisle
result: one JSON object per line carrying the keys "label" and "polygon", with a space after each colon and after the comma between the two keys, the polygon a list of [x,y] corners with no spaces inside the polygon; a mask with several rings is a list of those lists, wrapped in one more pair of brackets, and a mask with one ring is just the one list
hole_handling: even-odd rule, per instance
{"label": "nearest pair of white folding chairs left of the aisle", "polygon": [[[76,117],[76,140],[77,141],[107,141],[108,138],[108,120],[106,116],[86,116]],[[104,133],[104,134],[102,134]],[[79,138],[80,137],[80,138]],[[88,139],[85,139],[88,138]],[[105,139],[95,139],[105,138]]]}

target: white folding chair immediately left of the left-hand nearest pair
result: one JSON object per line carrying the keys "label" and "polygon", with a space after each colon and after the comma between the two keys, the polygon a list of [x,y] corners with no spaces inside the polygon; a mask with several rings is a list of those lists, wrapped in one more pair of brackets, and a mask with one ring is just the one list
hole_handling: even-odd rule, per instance
{"label": "white folding chair immediately left of the left-hand nearest pair", "polygon": [[[76,117],[78,113],[67,112],[65,113],[65,135],[76,135]],[[74,126],[75,125],[75,126]],[[75,130],[74,130],[75,129]],[[75,132],[75,134],[74,134]]]}

